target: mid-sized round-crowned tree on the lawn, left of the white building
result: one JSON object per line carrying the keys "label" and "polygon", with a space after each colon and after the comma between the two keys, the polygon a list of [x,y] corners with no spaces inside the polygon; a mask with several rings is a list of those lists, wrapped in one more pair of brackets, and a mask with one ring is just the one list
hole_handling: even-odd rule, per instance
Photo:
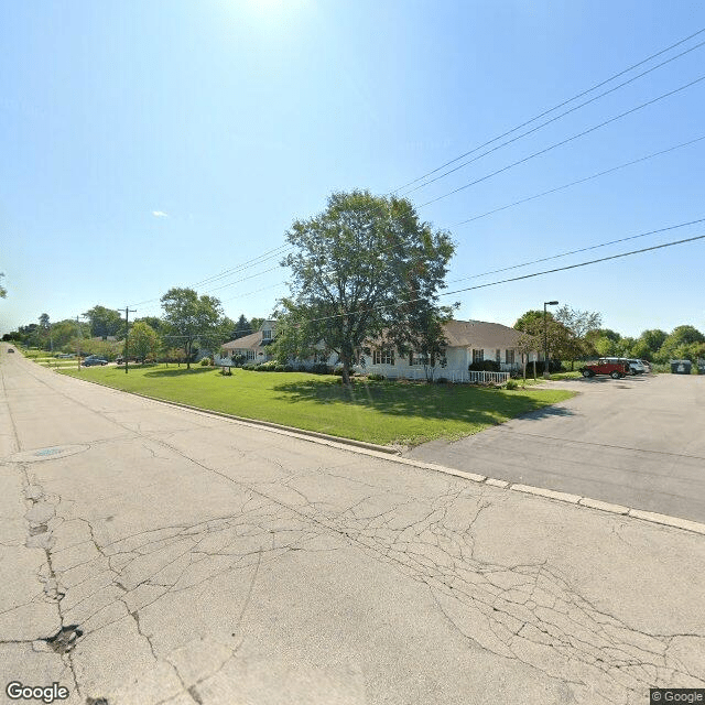
{"label": "mid-sized round-crowned tree on the lawn, left of the white building", "polygon": [[164,311],[165,339],[183,348],[186,367],[196,343],[217,346],[223,343],[223,306],[220,301],[205,294],[198,296],[193,289],[170,289],[161,299]]}

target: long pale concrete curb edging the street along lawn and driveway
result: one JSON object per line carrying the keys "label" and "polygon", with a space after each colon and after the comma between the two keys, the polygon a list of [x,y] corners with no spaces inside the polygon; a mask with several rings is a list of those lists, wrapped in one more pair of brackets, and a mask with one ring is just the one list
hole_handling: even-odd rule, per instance
{"label": "long pale concrete curb edging the street along lawn and driveway", "polygon": [[[80,379],[74,377],[73,379]],[[326,435],[325,433],[317,433],[315,431],[305,431],[301,429],[292,429],[291,426],[284,426],[281,424],[271,423],[269,421],[258,421],[253,419],[245,419],[242,416],[235,416],[232,414],[226,414],[218,411],[209,411],[206,409],[198,409],[198,406],[191,406],[188,404],[182,404],[178,402],[166,401],[164,399],[155,399],[154,397],[148,397],[147,394],[140,394],[138,392],[124,392],[121,389],[109,387],[108,384],[101,384],[93,380],[82,380],[89,382],[90,384],[98,384],[106,389],[111,389],[116,392],[122,392],[127,394],[133,394],[134,397],[141,397],[142,399],[149,399],[161,404],[169,406],[176,406],[178,409],[186,409],[205,416],[218,416],[226,419],[238,425],[251,426],[253,429],[265,429],[272,433],[280,435],[286,435],[290,437],[301,438],[302,441],[308,441],[311,443],[318,443],[332,448],[340,451],[347,451],[349,453],[357,453],[359,455],[368,455],[370,457],[388,460],[390,463],[398,463],[400,465],[408,465],[423,470],[431,470],[434,473],[443,473],[444,475],[452,475],[453,477],[459,477],[462,479],[476,482],[478,485],[488,485],[497,489],[506,489],[523,495],[532,495],[542,499],[549,499],[552,501],[558,501],[573,507],[585,507],[596,511],[603,511],[615,517],[629,517],[639,521],[647,521],[652,524],[659,524],[661,527],[670,527],[671,529],[680,529],[681,531],[690,531],[692,533],[698,533],[705,535],[705,523],[697,521],[691,521],[688,519],[682,519],[680,517],[670,517],[668,514],[659,514],[657,512],[644,511],[641,509],[634,509],[632,507],[623,507],[621,505],[612,505],[599,499],[592,499],[590,497],[581,497],[579,495],[571,495],[570,492],[558,492],[551,489],[544,489],[542,487],[532,487],[531,485],[521,485],[514,482],[508,482],[507,480],[500,480],[485,475],[476,475],[475,473],[466,473],[464,470],[457,470],[445,465],[437,465],[435,463],[423,463],[421,460],[414,460],[412,458],[404,458],[399,455],[401,452],[399,448],[389,446],[376,445],[373,443],[365,443],[362,441],[352,441],[348,438],[339,438],[338,436]]]}

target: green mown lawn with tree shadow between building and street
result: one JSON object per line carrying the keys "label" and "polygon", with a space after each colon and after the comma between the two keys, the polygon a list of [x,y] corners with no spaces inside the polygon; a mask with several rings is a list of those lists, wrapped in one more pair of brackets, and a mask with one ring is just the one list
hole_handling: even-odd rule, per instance
{"label": "green mown lawn with tree shadow between building and street", "polygon": [[486,389],[464,384],[366,382],[339,377],[252,372],[224,377],[209,367],[173,365],[62,370],[149,397],[371,443],[459,438],[573,397],[564,390]]}

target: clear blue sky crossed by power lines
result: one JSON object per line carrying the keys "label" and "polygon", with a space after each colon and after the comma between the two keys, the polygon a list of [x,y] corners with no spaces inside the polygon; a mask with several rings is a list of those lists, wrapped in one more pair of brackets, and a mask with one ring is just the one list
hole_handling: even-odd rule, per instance
{"label": "clear blue sky crossed by power lines", "polygon": [[[388,193],[703,28],[705,6],[688,0],[2,3],[0,332],[96,304],[159,315],[170,288],[282,245],[330,192]],[[704,218],[702,140],[457,225],[705,135],[705,80],[422,205],[701,76],[705,46],[411,194],[457,243],[448,289]],[[506,275],[698,235],[705,224]],[[276,263],[196,289],[232,318],[267,316],[285,271],[253,275]],[[627,335],[705,330],[704,272],[701,240],[447,301],[507,325],[557,299]]]}

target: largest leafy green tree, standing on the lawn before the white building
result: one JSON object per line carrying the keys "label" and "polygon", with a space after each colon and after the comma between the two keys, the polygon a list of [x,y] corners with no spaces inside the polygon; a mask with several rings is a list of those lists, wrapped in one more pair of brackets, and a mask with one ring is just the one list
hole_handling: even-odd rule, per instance
{"label": "largest leafy green tree, standing on the lawn before the white building", "polygon": [[[291,295],[281,317],[303,326],[304,347],[323,343],[337,352],[346,384],[365,341],[392,328],[403,338],[413,303],[436,307],[454,252],[449,235],[421,221],[409,200],[369,191],[332,194],[322,214],[294,221],[286,238],[295,251],[282,262]],[[291,328],[282,325],[278,336]]]}

